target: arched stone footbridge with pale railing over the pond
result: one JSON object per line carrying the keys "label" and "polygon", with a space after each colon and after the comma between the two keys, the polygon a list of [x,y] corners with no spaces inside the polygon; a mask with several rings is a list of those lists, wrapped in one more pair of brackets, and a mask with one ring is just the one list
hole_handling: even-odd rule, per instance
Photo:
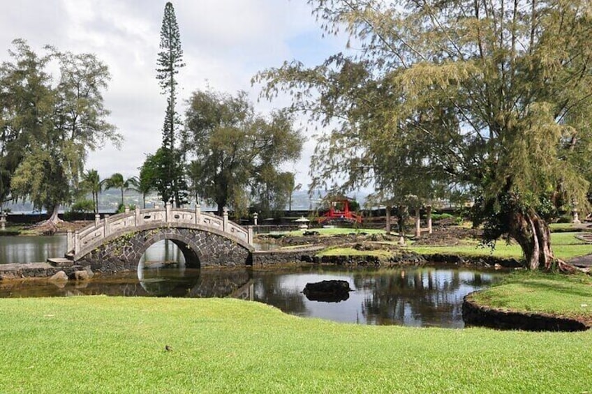
{"label": "arched stone footbridge with pale railing over the pond", "polygon": [[168,239],[183,253],[187,266],[236,266],[253,262],[253,228],[195,209],[135,209],[68,232],[66,255],[93,271],[138,269],[140,257],[154,243]]}

